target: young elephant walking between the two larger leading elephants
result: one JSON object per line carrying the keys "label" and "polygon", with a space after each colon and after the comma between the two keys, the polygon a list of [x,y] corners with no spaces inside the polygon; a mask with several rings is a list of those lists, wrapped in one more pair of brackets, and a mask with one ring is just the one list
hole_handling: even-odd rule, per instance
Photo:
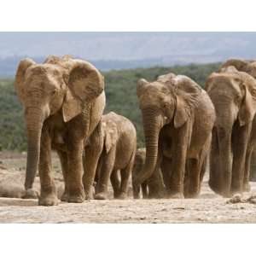
{"label": "young elephant walking between the two larger leading elephants", "polygon": [[104,145],[96,170],[95,199],[107,199],[109,178],[114,198],[125,199],[137,148],[136,129],[129,119],[110,112],[102,116],[102,137]]}

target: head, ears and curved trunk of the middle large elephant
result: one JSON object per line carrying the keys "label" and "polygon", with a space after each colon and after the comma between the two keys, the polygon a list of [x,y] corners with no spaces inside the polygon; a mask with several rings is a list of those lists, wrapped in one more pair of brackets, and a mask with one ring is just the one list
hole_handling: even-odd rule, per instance
{"label": "head, ears and curved trunk of the middle large elephant", "polygon": [[152,83],[145,79],[137,82],[146,143],[146,161],[143,172],[137,177],[137,184],[143,183],[154,172],[161,128],[172,124],[174,129],[179,129],[191,120],[200,95],[198,84],[173,73],[160,76]]}

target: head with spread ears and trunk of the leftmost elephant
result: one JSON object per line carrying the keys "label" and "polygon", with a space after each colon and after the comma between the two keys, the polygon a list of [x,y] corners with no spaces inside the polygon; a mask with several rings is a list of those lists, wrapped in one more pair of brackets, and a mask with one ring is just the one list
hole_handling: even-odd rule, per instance
{"label": "head with spread ears and trunk of the leftmost elephant", "polygon": [[43,64],[20,61],[15,89],[25,108],[27,162],[25,188],[31,189],[38,168],[44,121],[60,113],[64,122],[73,119],[100,96],[104,79],[87,61],[49,56]]}

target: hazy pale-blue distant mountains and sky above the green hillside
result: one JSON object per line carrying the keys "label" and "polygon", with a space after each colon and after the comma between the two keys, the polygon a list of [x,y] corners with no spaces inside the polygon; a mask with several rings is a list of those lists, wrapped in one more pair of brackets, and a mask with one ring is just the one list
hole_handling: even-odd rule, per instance
{"label": "hazy pale-blue distant mountains and sky above the green hillside", "polygon": [[0,32],[0,76],[21,58],[74,55],[102,70],[256,58],[255,32]]}

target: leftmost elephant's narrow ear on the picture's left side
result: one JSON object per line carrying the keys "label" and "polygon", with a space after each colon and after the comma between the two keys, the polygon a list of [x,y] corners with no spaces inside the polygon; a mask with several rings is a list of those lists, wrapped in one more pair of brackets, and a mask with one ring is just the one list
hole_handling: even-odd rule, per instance
{"label": "leftmost elephant's narrow ear on the picture's left side", "polygon": [[20,98],[20,101],[23,101],[24,98],[24,88],[25,88],[25,74],[28,67],[31,67],[32,65],[36,64],[35,61],[32,61],[32,59],[26,58],[22,61],[20,61],[20,64],[17,68],[17,72],[15,75],[15,90],[17,91],[17,94]]}

